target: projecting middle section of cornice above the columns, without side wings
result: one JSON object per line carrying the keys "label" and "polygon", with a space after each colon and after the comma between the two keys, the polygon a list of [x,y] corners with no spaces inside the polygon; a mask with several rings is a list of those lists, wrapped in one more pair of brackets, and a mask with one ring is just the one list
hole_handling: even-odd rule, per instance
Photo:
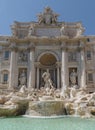
{"label": "projecting middle section of cornice above the columns, without side wings", "polygon": [[78,41],[86,42],[87,38],[84,36],[77,37],[77,38],[68,38],[67,36],[57,36],[57,37],[47,37],[47,36],[42,36],[42,37],[37,37],[37,36],[28,36],[23,39],[17,38],[17,37],[10,37],[9,41],[23,44],[23,43],[58,43],[59,42],[68,42],[68,43],[76,43]]}

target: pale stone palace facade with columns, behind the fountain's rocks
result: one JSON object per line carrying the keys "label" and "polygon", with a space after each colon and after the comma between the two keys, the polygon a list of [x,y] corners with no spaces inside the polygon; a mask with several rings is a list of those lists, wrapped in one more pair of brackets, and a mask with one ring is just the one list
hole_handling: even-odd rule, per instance
{"label": "pale stone palace facade with columns, behind the fountain's rocks", "polygon": [[81,22],[59,22],[46,7],[37,22],[11,25],[11,36],[0,36],[0,88],[44,86],[49,72],[57,89],[77,86],[95,91],[95,36],[84,36]]}

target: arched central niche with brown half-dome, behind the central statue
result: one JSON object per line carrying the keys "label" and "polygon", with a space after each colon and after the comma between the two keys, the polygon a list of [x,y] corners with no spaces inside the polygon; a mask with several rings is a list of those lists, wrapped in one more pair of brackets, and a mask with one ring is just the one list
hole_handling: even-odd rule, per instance
{"label": "arched central niche with brown half-dome, behind the central statue", "polygon": [[55,55],[51,53],[43,54],[39,59],[40,64],[42,65],[39,69],[39,86],[44,87],[44,81],[42,75],[44,72],[49,71],[51,80],[53,81],[54,87],[57,86],[57,68],[56,62],[57,59]]}

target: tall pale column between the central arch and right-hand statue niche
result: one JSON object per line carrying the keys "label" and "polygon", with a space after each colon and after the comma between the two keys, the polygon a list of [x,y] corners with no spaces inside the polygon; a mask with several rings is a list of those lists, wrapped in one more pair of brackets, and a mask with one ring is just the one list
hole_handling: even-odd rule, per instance
{"label": "tall pale column between the central arch and right-hand statue niche", "polygon": [[62,66],[61,66],[61,87],[67,87],[67,52],[62,49]]}

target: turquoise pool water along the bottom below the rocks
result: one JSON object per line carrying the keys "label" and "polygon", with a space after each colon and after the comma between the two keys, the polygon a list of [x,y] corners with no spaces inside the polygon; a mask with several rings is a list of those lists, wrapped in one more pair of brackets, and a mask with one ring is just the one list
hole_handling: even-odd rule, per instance
{"label": "turquoise pool water along the bottom below the rocks", "polygon": [[95,118],[1,118],[0,130],[95,130]]}

